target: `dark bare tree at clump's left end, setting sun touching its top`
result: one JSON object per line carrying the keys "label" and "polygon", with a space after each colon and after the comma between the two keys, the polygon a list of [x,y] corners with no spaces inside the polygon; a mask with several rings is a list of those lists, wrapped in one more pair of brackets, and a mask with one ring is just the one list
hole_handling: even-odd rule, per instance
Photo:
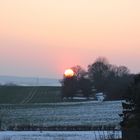
{"label": "dark bare tree at clump's left end, setting sun touching its top", "polygon": [[87,72],[79,65],[71,68],[74,71],[74,76],[63,77],[62,84],[62,99],[73,98],[78,91],[85,97],[89,97],[92,90],[90,79],[87,77]]}

